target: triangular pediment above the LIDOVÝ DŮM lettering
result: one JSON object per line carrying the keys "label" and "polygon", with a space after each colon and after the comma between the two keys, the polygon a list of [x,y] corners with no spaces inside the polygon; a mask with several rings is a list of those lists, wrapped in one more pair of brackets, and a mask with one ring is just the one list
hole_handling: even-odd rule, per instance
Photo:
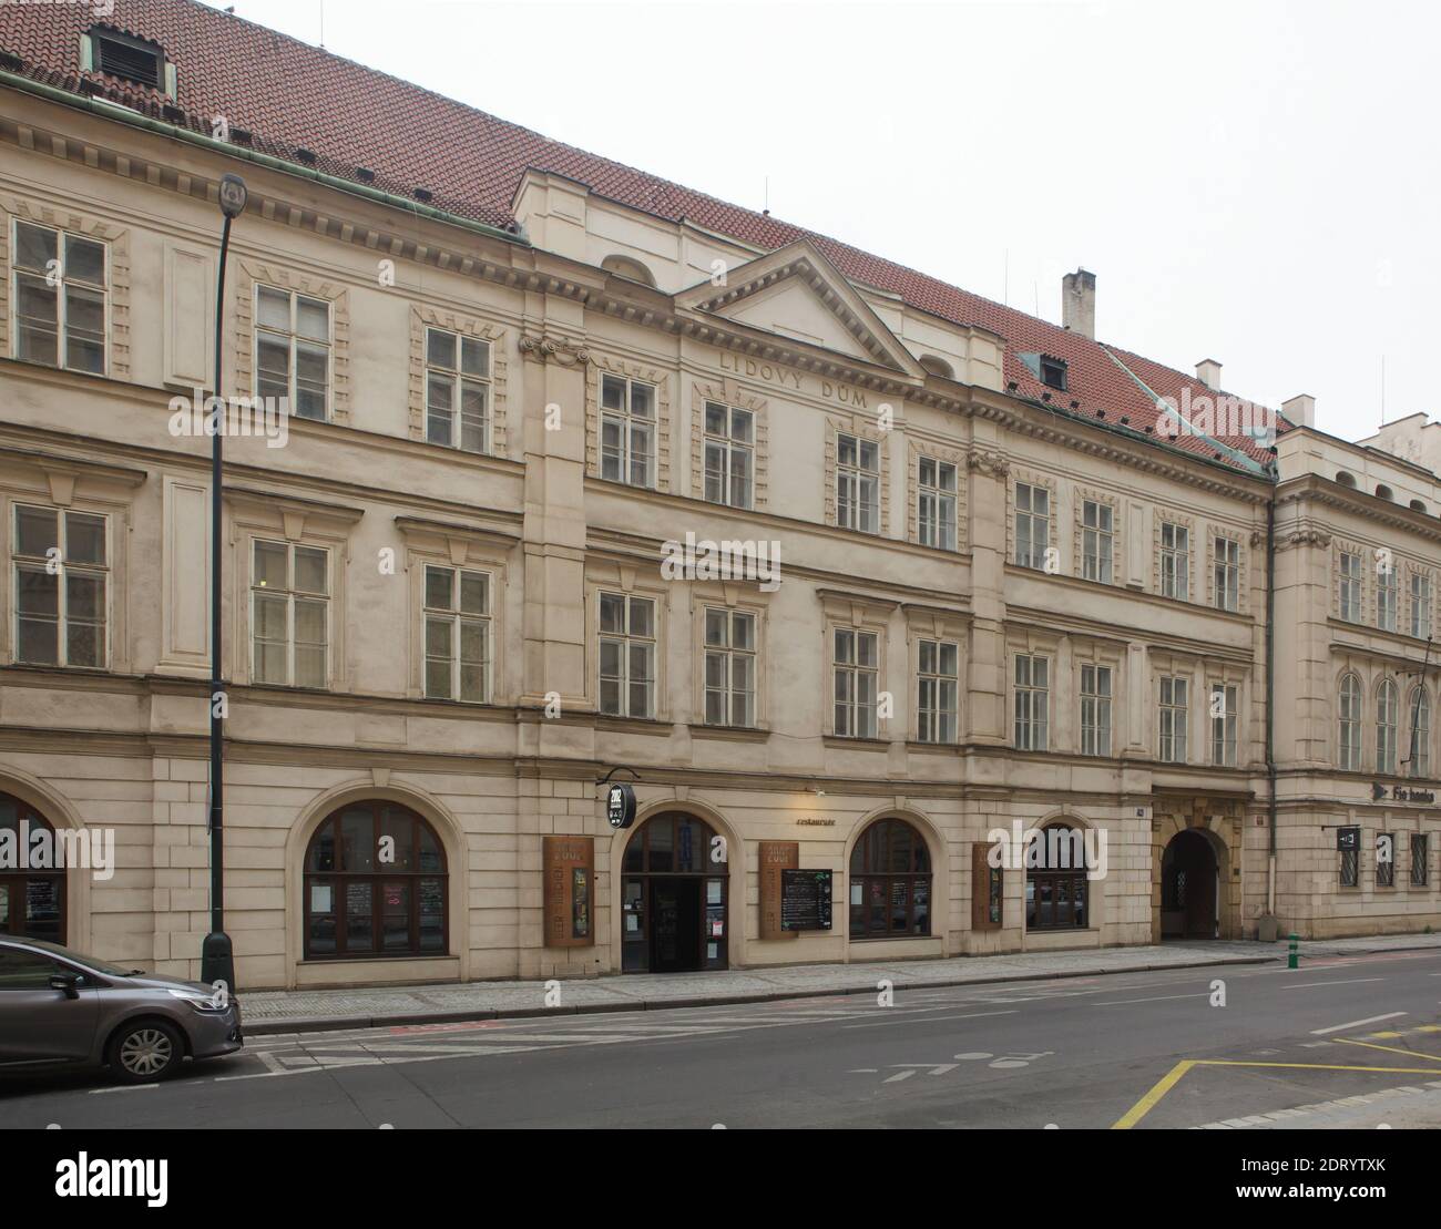
{"label": "triangular pediment above the LIDOV\u00dd D\u016eM lettering", "polygon": [[718,316],[909,376],[921,365],[856,288],[808,241],[798,239],[676,295],[676,307]]}

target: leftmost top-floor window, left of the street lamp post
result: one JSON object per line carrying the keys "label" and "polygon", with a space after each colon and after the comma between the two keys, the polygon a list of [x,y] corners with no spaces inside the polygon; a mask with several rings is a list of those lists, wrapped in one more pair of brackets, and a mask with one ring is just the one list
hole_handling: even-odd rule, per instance
{"label": "leftmost top-floor window, left of the street lamp post", "polygon": [[14,357],[105,375],[108,249],[95,239],[14,223]]}

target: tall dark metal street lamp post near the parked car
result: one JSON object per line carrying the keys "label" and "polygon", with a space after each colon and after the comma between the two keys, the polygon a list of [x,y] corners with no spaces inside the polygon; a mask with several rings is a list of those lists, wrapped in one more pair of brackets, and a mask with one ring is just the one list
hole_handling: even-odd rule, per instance
{"label": "tall dark metal street lamp post near the parked car", "polygon": [[220,265],[215,282],[215,389],[210,412],[210,934],[200,948],[200,980],[235,993],[235,952],[225,934],[225,683],[220,673],[220,477],[225,439],[225,402],[220,395],[220,353],[225,320],[225,258],[231,223],[245,212],[245,180],[220,179]]}

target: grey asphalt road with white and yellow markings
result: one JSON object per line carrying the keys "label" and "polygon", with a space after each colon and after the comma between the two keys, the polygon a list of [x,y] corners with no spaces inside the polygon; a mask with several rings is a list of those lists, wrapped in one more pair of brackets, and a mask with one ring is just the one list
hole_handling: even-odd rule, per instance
{"label": "grey asphalt road with white and yellow markings", "polygon": [[0,1081],[22,1128],[1228,1121],[1441,1127],[1441,952],[256,1037],[134,1089]]}

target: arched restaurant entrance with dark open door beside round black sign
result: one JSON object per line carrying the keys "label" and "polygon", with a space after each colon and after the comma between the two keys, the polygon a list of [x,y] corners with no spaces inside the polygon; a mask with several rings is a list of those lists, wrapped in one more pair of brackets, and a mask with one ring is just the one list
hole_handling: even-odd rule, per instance
{"label": "arched restaurant entrance with dark open door beside round black sign", "polygon": [[621,864],[623,973],[726,968],[731,866],[716,841],[723,837],[686,811],[663,811],[631,834]]}

